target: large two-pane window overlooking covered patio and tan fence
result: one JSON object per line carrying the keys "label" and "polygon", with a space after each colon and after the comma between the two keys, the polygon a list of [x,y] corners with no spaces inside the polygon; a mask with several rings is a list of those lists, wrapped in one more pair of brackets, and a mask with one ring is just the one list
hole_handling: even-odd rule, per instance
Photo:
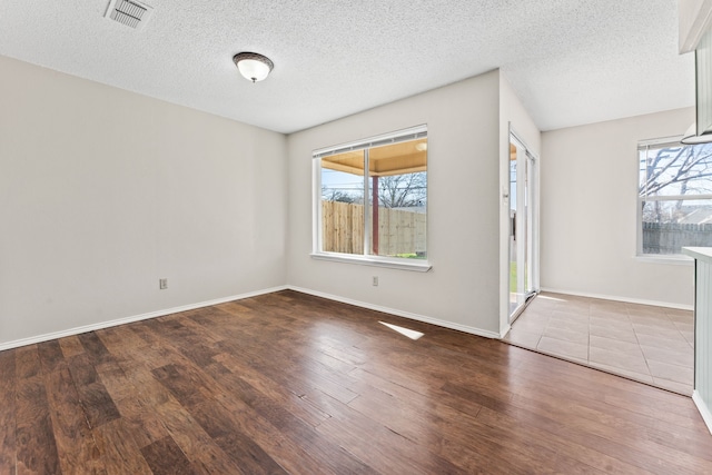
{"label": "large two-pane window overlooking covered patio and tan fence", "polygon": [[425,126],[316,150],[317,258],[427,270]]}

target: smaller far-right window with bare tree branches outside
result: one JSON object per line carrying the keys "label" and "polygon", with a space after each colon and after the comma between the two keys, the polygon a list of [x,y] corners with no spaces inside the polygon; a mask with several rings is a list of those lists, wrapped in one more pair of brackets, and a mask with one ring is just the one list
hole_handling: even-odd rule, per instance
{"label": "smaller far-right window with bare tree branches outside", "polygon": [[639,255],[712,246],[712,144],[656,140],[637,150]]}

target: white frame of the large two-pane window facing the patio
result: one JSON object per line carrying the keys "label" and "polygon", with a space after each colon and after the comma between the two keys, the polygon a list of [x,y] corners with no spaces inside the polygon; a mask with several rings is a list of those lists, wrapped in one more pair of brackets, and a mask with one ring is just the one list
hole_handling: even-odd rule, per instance
{"label": "white frame of the large two-pane window facing the patio", "polygon": [[[426,273],[432,269],[433,265],[429,261],[429,253],[426,250],[425,259],[408,259],[400,257],[387,257],[387,256],[375,256],[367,254],[364,249],[364,254],[345,254],[345,253],[332,253],[323,250],[323,216],[322,216],[322,158],[328,157],[332,155],[337,155],[346,151],[356,151],[364,150],[365,154],[365,162],[366,170],[364,175],[364,184],[367,186],[368,184],[368,150],[372,148],[386,146],[390,144],[397,142],[406,142],[411,140],[417,140],[419,138],[427,138],[427,125],[419,125],[415,127],[409,127],[407,129],[400,129],[393,132],[382,133],[373,137],[368,137],[362,140],[354,140],[352,142],[340,144],[332,147],[324,147],[320,149],[316,149],[312,152],[312,172],[313,172],[313,230],[312,230],[312,258],[318,260],[330,260],[337,263],[346,263],[346,264],[357,264],[365,266],[377,266],[377,267],[387,267],[393,269],[402,269],[402,270],[414,270]],[[429,158],[429,154],[428,154]],[[426,189],[429,186],[426,185]],[[367,200],[365,200],[367,201]],[[377,206],[377,205],[376,205]],[[426,200],[426,249],[428,248],[428,202]],[[368,214],[369,206],[364,206],[364,215],[365,217]],[[370,226],[368,224],[368,219],[364,219],[364,232],[365,236],[368,237],[370,232]],[[366,240],[364,248],[368,240]]]}

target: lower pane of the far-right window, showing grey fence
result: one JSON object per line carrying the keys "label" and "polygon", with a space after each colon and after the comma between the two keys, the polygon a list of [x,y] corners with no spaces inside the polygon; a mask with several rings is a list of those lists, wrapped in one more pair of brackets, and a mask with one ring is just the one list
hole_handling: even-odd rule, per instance
{"label": "lower pane of the far-right window, showing grey fence", "polygon": [[682,254],[712,246],[712,200],[642,201],[643,254]]}

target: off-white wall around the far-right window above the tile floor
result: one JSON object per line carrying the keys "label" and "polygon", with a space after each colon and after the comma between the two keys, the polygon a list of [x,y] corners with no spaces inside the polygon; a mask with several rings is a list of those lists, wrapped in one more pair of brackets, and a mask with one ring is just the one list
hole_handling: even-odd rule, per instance
{"label": "off-white wall around the far-right window above the tile floor", "polygon": [[639,140],[682,135],[693,120],[689,108],[543,133],[543,288],[692,305],[692,268],[636,259],[635,222]]}

